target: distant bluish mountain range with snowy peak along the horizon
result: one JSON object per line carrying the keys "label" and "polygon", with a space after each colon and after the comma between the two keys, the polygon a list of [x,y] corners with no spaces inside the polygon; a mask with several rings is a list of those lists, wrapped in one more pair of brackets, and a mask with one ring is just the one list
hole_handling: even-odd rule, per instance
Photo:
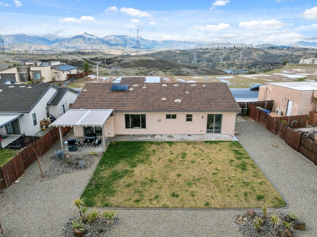
{"label": "distant bluish mountain range with snowy peak along the horizon", "polygon": [[316,42],[296,42],[289,46],[264,45],[245,45],[232,43],[209,43],[202,44],[187,41],[154,41],[146,40],[141,37],[110,35],[100,38],[88,33],[73,37],[60,37],[53,34],[46,36],[28,36],[23,34],[3,35],[2,40],[4,49],[13,50],[80,50],[80,49],[139,49],[139,50],[158,50],[158,49],[193,49],[193,48],[217,48],[217,47],[257,47],[257,48],[284,48],[284,47],[304,47],[317,48]]}

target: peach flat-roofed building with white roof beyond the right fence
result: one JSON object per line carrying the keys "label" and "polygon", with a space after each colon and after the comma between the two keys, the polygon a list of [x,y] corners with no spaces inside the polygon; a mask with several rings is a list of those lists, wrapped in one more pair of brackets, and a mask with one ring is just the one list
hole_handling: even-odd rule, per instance
{"label": "peach flat-roofed building with white roof beyond the right fence", "polygon": [[317,82],[265,83],[258,97],[264,100],[274,100],[271,116],[309,114],[317,109]]}

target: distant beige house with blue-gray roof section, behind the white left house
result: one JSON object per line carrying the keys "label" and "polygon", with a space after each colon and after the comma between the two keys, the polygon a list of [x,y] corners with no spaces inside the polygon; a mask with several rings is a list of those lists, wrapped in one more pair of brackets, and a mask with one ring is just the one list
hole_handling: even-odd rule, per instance
{"label": "distant beige house with blue-gray roof section, behind the white left house", "polygon": [[64,62],[25,62],[24,66],[7,68],[0,71],[0,78],[15,80],[18,83],[65,81],[67,74],[76,74],[77,67]]}

